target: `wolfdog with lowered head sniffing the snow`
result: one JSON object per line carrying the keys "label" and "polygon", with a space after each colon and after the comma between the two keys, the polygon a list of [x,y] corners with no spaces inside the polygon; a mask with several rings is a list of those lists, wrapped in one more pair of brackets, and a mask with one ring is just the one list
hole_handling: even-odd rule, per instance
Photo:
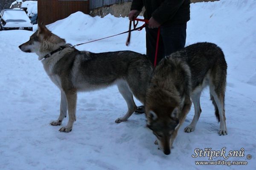
{"label": "wolfdog with lowered head sniffing the snow", "polygon": [[189,45],[162,59],[152,74],[146,93],[145,113],[147,126],[157,137],[157,143],[165,154],[170,154],[177,130],[190,110],[190,98],[195,107],[195,116],[185,132],[195,130],[201,114],[201,92],[207,85],[215,115],[220,121],[218,133],[227,134],[224,109],[226,77],[224,54],[221,48],[212,43]]}

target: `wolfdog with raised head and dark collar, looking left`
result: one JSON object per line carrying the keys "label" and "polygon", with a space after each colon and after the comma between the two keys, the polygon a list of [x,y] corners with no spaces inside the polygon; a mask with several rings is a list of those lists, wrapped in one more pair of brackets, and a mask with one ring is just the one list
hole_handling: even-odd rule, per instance
{"label": "wolfdog with raised head and dark collar, looking left", "polygon": [[127,102],[128,111],[116,123],[126,121],[137,109],[133,95],[145,103],[145,92],[150,81],[152,66],[143,54],[133,51],[91,53],[78,51],[66,44],[45,26],[38,24],[38,31],[19,48],[36,53],[52,82],[61,90],[60,116],[51,122],[61,125],[67,115],[67,126],[59,131],[70,132],[76,121],[76,99],[79,91],[93,91],[116,84]]}

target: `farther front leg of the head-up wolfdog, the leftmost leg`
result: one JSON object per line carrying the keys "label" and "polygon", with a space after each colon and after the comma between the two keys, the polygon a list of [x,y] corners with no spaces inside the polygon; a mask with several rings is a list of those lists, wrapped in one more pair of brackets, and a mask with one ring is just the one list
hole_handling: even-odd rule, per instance
{"label": "farther front leg of the head-up wolfdog, the leftmost leg", "polygon": [[61,107],[60,107],[60,116],[56,121],[50,123],[52,126],[61,125],[62,120],[67,117],[67,98],[64,91],[61,91]]}

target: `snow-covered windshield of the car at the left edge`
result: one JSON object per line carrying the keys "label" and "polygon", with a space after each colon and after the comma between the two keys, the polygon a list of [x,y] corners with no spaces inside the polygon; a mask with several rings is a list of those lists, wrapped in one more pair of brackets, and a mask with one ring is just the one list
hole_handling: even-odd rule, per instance
{"label": "snow-covered windshield of the car at the left edge", "polygon": [[26,12],[21,10],[6,10],[2,18],[5,22],[30,22]]}

